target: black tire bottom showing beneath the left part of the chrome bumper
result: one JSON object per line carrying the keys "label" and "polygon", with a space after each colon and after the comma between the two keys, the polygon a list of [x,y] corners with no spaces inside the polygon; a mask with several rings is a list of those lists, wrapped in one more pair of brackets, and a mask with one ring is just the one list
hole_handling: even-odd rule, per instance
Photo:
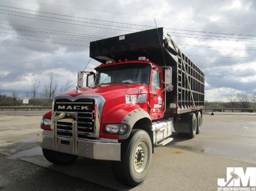
{"label": "black tire bottom showing beneath the left part of the chrome bumper", "polygon": [[68,165],[77,159],[78,156],[73,154],[61,153],[58,151],[53,151],[43,148],[44,157],[51,163],[55,165]]}

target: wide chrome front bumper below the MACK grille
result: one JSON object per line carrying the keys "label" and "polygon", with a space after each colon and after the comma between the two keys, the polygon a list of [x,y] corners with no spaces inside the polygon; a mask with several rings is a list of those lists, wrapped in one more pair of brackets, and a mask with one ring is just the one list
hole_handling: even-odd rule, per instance
{"label": "wide chrome front bumper below the MACK grille", "polygon": [[72,139],[56,136],[51,131],[38,132],[37,143],[42,148],[74,154],[89,159],[121,160],[121,143],[103,140]]}

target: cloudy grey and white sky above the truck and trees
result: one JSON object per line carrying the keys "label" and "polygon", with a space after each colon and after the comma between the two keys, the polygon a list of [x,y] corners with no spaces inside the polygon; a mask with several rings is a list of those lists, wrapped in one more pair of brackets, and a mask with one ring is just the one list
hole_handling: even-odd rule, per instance
{"label": "cloudy grey and white sky above the truck and trees", "polygon": [[[256,91],[256,0],[0,0],[0,93],[20,97],[49,73],[61,87],[89,42],[164,27],[205,73],[205,100]],[[91,60],[86,70],[99,63]]]}

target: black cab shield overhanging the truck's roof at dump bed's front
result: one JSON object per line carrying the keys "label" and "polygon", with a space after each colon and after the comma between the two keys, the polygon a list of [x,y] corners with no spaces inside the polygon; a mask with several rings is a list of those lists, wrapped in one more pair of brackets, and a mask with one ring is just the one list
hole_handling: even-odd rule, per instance
{"label": "black cab shield overhanging the truck's roof at dump bed's front", "polygon": [[175,62],[177,50],[171,42],[163,42],[163,28],[90,42],[90,57],[103,64],[111,59],[118,62],[118,60],[137,60],[138,57],[147,57],[150,61],[163,66],[160,39],[165,45],[163,53],[166,62]]}

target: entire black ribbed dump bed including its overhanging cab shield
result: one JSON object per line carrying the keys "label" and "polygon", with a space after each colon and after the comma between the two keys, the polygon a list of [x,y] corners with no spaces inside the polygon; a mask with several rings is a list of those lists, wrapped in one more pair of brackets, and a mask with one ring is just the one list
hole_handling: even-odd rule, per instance
{"label": "entire black ribbed dump bed including its overhanging cab shield", "polygon": [[176,115],[204,108],[204,73],[163,28],[90,42],[90,57],[102,64],[147,57],[160,66],[171,66],[175,89],[167,93],[167,113]]}

